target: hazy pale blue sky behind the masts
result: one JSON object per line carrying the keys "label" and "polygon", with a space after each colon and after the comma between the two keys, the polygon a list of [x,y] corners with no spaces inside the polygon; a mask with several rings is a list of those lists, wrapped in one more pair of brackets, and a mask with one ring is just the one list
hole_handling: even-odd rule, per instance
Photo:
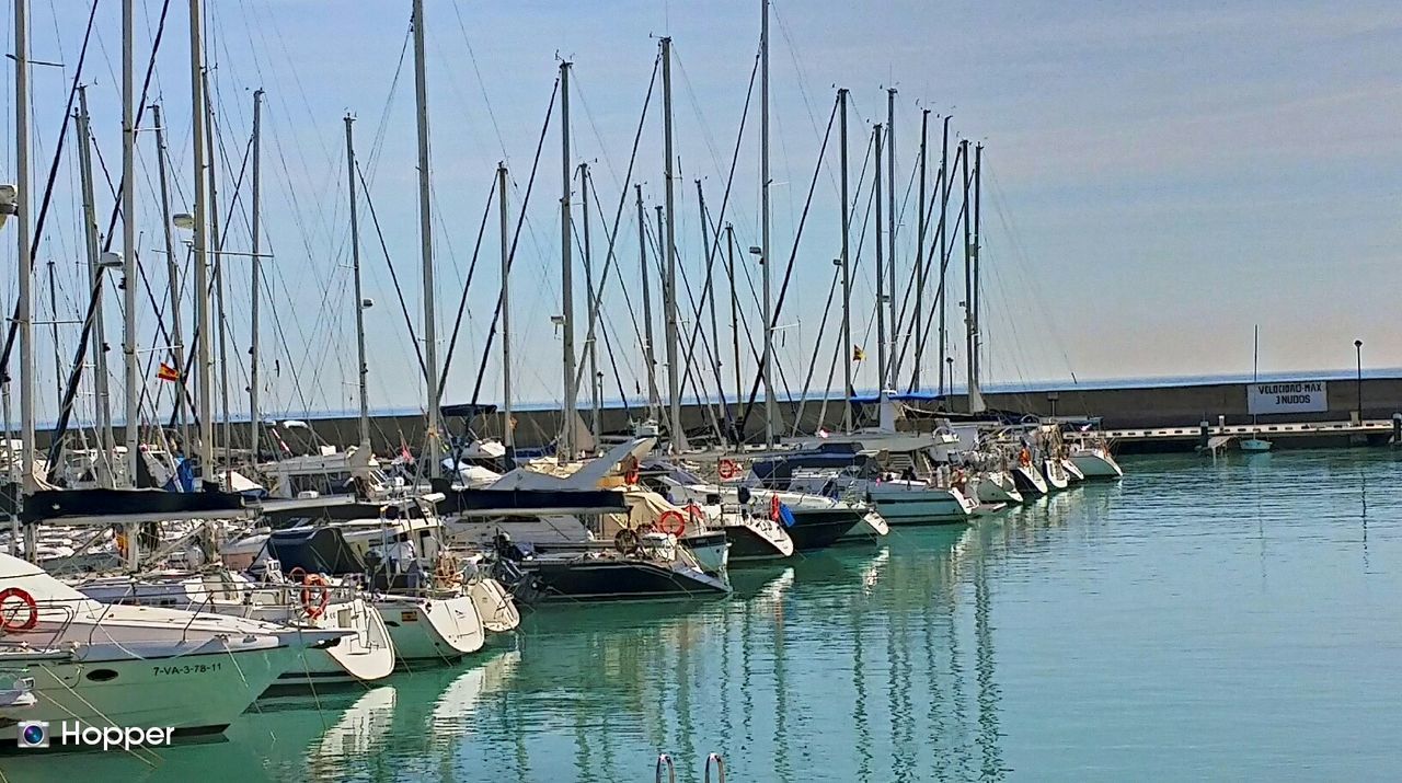
{"label": "hazy pale blue sky behind the masts", "polygon": [[[31,57],[59,63],[36,64],[31,76],[36,189],[53,155],[86,6],[79,0],[31,1]],[[264,408],[303,413],[356,406],[342,119],[348,112],[356,118],[356,151],[374,210],[372,217],[362,195],[365,296],[374,300],[366,312],[370,403],[379,409],[421,408],[422,375],[386,261],[393,262],[404,307],[422,339],[409,3],[212,0],[206,7],[206,56],[220,147],[216,182],[230,254],[223,256],[229,406],[238,412],[248,408],[251,261],[233,254],[250,249],[251,196],[248,176],[238,188],[236,181],[251,133],[252,92],[261,87],[266,101],[259,212],[264,251],[271,254],[261,265]],[[137,8],[140,78],[161,3],[137,0]],[[90,85],[95,165],[114,182],[121,174],[119,10],[115,0],[100,3],[83,78]],[[6,14],[6,25],[13,28],[13,7]],[[642,304],[631,185],[642,185],[648,241],[656,242],[653,206],[662,203],[665,183],[660,78],[653,84],[631,179],[627,169],[658,39],[670,35],[674,52],[679,263],[700,296],[707,254],[695,181],[702,182],[712,220],[719,220],[758,48],[760,3],[426,0],[425,17],[440,361],[485,214],[444,402],[472,398],[501,286],[495,198],[494,212],[484,213],[498,161],[510,171],[512,220],[523,212],[526,216],[510,279],[515,396],[530,402],[561,398],[561,340],[551,322],[562,310],[558,104],[530,202],[522,207],[559,59],[573,63],[569,162],[587,162],[593,172],[589,195],[596,276],[606,263],[608,227],[615,213],[621,214],[614,245],[617,276],[601,301],[603,392],[617,398],[621,391],[637,402],[645,380],[634,326],[642,319]],[[770,49],[775,291],[782,265],[791,255],[796,259],[775,332],[784,375],[777,380],[780,394],[785,387],[798,395],[805,387],[812,392],[843,382],[841,360],[834,361],[837,352],[847,354],[837,329],[840,315],[836,308],[824,310],[833,284],[831,259],[841,242],[836,126],[819,160],[837,87],[851,90],[852,331],[854,343],[868,354],[857,366],[858,387],[876,385],[869,143],[872,125],[886,120],[887,87],[897,90],[896,265],[901,293],[916,255],[916,196],[907,189],[918,161],[921,112],[931,111],[931,179],[939,162],[942,116],[952,115],[956,139],[984,144],[980,301],[987,382],[1249,373],[1258,325],[1262,373],[1308,375],[1350,367],[1354,339],[1364,340],[1366,366],[1402,366],[1402,322],[1391,318],[1402,276],[1396,263],[1402,248],[1399,45],[1402,7],[1395,3],[775,0]],[[186,4],[172,3],[150,101],[164,105],[174,212],[191,209],[193,186],[188,46]],[[13,67],[11,60],[4,62],[7,87],[0,106],[8,139],[14,139]],[[758,101],[756,85],[725,214],[740,248],[736,263],[747,272],[737,275],[737,289],[756,340],[758,305],[749,280],[758,286],[760,268],[743,251],[760,244]],[[136,220],[144,284],[164,297],[164,235],[149,115],[137,146]],[[86,304],[74,150],[70,140],[60,158],[36,284],[38,318],[50,321],[52,261],[57,319],[69,321],[57,325],[64,364],[72,361],[77,338],[70,321]],[[6,146],[3,162],[6,171],[14,171],[13,143]],[[112,195],[101,171],[98,179],[98,223],[105,233]],[[795,249],[810,181],[816,182],[812,207]],[[238,198],[231,200],[236,192]],[[579,231],[578,176],[572,193]],[[618,212],[621,196],[627,200]],[[956,193],[951,220],[958,202]],[[578,237],[573,279],[576,343],[582,349],[586,297],[580,245]],[[13,301],[13,241],[4,242],[3,254],[0,289]],[[184,259],[184,252],[177,256]],[[948,342],[959,384],[965,366],[958,308],[965,298],[962,263],[955,252]],[[653,287],[658,280],[653,268]],[[722,375],[730,391],[730,287],[723,276],[719,286]],[[188,279],[182,290],[188,335]],[[683,294],[684,332],[694,326],[690,301]],[[142,304],[137,333],[146,359],[165,340],[157,336],[157,310],[144,289]],[[658,291],[652,305],[660,361]],[[119,398],[119,297],[109,294],[105,307],[114,394]],[[708,314],[702,325],[708,332]],[[36,328],[41,419],[52,415],[56,398],[50,329],[48,324]],[[698,373],[704,391],[714,392],[709,354],[700,352],[707,367]],[[935,352],[931,340],[923,370],[927,388],[935,381]],[[903,387],[910,364],[907,357]],[[743,357],[746,391],[754,366],[751,357]],[[665,367],[659,366],[659,373]],[[154,380],[149,388],[163,395],[160,405],[168,410],[170,389]],[[499,398],[501,356],[494,350],[481,399]],[[587,389],[582,399],[587,399]],[[91,395],[80,398],[84,405],[91,406]],[[121,410],[121,402],[114,408]]]}

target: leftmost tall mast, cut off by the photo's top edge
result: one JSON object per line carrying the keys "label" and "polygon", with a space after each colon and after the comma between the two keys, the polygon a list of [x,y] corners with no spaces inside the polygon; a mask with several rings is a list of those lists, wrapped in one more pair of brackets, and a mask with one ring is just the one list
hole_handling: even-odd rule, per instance
{"label": "leftmost tall mast, cut off by the photo's top edge", "polygon": [[[14,0],[14,130],[15,130],[15,205],[14,221],[20,265],[20,461],[24,465],[21,490],[32,494],[39,489],[34,475],[34,268],[29,262],[29,25],[28,0]],[[6,444],[7,447],[10,444]],[[10,455],[14,459],[14,454]],[[11,517],[11,532],[18,517]],[[14,541],[14,538],[11,538]],[[35,529],[25,525],[24,555],[35,560]]]}

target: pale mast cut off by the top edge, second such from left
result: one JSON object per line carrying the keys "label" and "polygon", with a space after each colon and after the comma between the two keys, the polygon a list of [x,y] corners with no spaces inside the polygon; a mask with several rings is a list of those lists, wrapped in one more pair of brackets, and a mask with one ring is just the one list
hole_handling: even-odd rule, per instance
{"label": "pale mast cut off by the top edge, second such from left", "polygon": [[[132,42],[136,36],[136,3],[122,0],[122,359],[125,361],[126,486],[136,486],[140,459],[137,424],[142,415],[140,366],[136,357],[136,66]],[[135,553],[135,546],[130,550]],[[136,563],[132,563],[133,566]]]}

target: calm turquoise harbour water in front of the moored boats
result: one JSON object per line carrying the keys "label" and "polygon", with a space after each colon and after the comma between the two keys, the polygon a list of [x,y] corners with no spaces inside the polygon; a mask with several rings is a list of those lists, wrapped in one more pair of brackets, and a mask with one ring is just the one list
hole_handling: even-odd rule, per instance
{"label": "calm turquoise harbour water in front of the moored boats", "polygon": [[1402,454],[1126,459],[972,529],[537,612],[512,650],[261,702],[227,741],[27,780],[1394,777]]}

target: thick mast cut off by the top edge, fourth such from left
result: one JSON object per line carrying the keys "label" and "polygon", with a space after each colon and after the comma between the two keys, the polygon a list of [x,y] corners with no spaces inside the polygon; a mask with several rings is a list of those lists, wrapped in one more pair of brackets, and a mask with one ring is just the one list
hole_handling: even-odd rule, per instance
{"label": "thick mast cut off by the top edge, fourth such from left", "polygon": [[[423,385],[428,392],[425,455],[429,478],[439,478],[437,319],[433,314],[433,212],[429,199],[429,84],[425,71],[423,0],[414,0],[414,97],[419,133],[419,255],[423,261]],[[565,167],[568,181],[568,165]]]}

